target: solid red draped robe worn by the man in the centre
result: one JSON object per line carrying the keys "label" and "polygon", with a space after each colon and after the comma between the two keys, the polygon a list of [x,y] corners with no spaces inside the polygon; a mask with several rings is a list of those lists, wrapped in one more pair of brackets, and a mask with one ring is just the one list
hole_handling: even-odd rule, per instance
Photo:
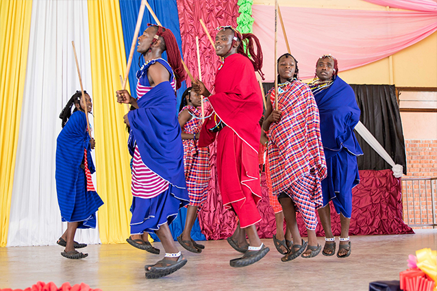
{"label": "solid red draped robe worn by the man in the centre", "polygon": [[[216,94],[208,97],[211,107],[226,126],[217,137],[217,172],[223,205],[234,209],[240,227],[257,223],[260,200],[258,147],[260,144],[262,97],[253,65],[243,55],[225,58],[214,82]],[[203,124],[199,147],[211,144],[216,133],[212,116]]]}

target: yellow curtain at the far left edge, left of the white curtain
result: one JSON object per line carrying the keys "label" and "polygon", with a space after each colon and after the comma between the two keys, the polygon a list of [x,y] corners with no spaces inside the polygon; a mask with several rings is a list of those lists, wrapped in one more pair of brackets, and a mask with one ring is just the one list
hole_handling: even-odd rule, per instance
{"label": "yellow curtain at the far left edge, left of the white curtain", "polygon": [[32,1],[0,1],[0,246],[8,240]]}

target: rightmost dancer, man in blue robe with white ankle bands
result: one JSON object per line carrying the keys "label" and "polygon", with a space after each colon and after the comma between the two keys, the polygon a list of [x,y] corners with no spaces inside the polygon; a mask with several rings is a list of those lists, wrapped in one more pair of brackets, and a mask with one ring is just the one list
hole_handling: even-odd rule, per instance
{"label": "rightmost dancer, man in blue robe with white ankle bands", "polygon": [[319,216],[325,230],[323,255],[334,255],[329,201],[340,214],[341,233],[337,257],[349,257],[349,224],[352,188],[360,183],[357,156],[362,155],[353,129],[360,121],[360,108],[351,86],[338,77],[338,63],[332,55],[322,55],[316,63],[316,77],[308,84],[320,114],[320,131],[325,151],[327,178],[322,181],[323,207]]}

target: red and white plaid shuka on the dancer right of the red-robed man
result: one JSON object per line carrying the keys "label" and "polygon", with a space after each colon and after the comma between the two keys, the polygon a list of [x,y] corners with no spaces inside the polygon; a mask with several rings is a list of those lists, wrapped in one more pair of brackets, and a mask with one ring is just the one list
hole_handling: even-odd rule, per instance
{"label": "red and white plaid shuka on the dancer right of the red-robed man", "polygon": [[[273,194],[289,194],[305,225],[313,229],[317,224],[315,210],[323,206],[321,180],[327,175],[319,110],[310,88],[301,81],[278,89],[282,116],[279,123],[270,126],[268,149]],[[269,93],[274,104],[274,90]]]}

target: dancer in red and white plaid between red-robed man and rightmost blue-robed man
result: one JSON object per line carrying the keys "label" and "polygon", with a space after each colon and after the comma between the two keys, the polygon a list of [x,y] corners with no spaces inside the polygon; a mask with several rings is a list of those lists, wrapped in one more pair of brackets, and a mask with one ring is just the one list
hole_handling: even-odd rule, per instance
{"label": "dancer in red and white plaid between red-robed man and rightmost blue-robed man", "polygon": [[[320,134],[319,111],[310,88],[297,81],[297,61],[289,53],[278,59],[281,84],[278,86],[278,110],[273,110],[274,90],[266,109],[264,131],[269,134],[269,170],[272,189],[284,210],[295,244],[282,261],[314,257],[321,251],[317,244],[316,210],[323,205],[321,180],[326,177],[326,162]],[[302,215],[308,231],[301,239],[296,211]],[[301,243],[301,244],[300,244]]]}

